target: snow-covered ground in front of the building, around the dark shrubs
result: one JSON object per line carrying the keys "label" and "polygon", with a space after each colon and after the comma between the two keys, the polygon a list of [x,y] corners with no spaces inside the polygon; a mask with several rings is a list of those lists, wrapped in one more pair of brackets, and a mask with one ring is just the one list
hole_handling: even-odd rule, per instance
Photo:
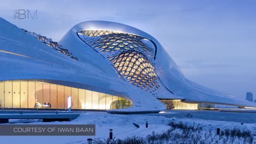
{"label": "snow-covered ground in front of the building, around the dark shrubs", "polygon": [[[209,111],[211,115],[213,111]],[[209,132],[212,131],[213,135],[217,128],[220,130],[225,129],[239,129],[241,131],[249,130],[252,134],[256,133],[255,123],[241,123],[237,122],[226,122],[226,121],[212,121],[197,118],[176,118],[166,117],[164,115],[177,115],[180,112],[169,111],[165,114],[158,115],[117,115],[108,114],[103,112],[89,112],[81,113],[81,116],[70,122],[34,122],[29,124],[95,124],[96,125],[96,136],[85,137],[85,136],[1,136],[1,143],[26,143],[28,141],[39,144],[39,143],[86,143],[87,138],[100,138],[107,139],[109,135],[109,129],[113,129],[113,135],[115,139],[124,139],[126,137],[132,137],[134,135],[139,137],[146,137],[153,131],[156,133],[162,133],[171,126],[170,122],[187,124],[188,126],[202,127],[201,131]],[[219,113],[225,116],[225,113]],[[235,114],[235,113],[234,113]],[[239,114],[239,113],[237,113]],[[241,114],[241,113],[240,113]],[[183,113],[180,113],[183,115]],[[145,127],[145,123],[148,121],[149,127]],[[140,125],[139,128],[135,127],[133,123]],[[255,138],[255,135],[253,135]]]}

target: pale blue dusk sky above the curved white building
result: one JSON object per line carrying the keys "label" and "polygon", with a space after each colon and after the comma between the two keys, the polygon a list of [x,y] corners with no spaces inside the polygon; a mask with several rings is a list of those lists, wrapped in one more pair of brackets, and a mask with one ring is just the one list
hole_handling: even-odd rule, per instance
{"label": "pale blue dusk sky above the curved white building", "polygon": [[[2,1],[0,17],[59,41],[79,22],[106,20],[154,36],[191,81],[256,98],[256,1]],[[14,19],[16,9],[37,19]]]}

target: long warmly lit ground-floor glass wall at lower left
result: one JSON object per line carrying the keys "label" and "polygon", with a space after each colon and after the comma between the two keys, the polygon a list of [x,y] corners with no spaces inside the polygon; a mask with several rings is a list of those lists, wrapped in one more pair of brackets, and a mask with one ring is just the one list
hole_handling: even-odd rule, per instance
{"label": "long warmly lit ground-floor glass wall at lower left", "polygon": [[90,90],[36,81],[0,82],[1,108],[121,109],[132,106],[130,100]]}

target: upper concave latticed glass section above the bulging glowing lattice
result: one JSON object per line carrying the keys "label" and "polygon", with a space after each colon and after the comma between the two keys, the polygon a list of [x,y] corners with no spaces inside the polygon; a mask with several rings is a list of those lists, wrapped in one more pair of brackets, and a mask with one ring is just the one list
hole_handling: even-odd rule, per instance
{"label": "upper concave latticed glass section above the bulging glowing lattice", "polygon": [[81,30],[78,35],[94,49],[106,54],[107,58],[123,51],[135,50],[152,61],[155,53],[154,44],[137,35],[110,30]]}

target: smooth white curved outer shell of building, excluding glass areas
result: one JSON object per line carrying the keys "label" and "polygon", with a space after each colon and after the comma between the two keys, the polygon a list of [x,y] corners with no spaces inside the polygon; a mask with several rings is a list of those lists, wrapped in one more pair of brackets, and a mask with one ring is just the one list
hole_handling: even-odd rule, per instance
{"label": "smooth white curved outer shell of building, excluding glass areas", "polygon": [[[47,79],[69,86],[120,95],[133,101],[124,111],[163,110],[156,98],[183,99],[188,102],[213,102],[256,107],[255,103],[238,99],[189,81],[162,45],[149,34],[127,25],[108,21],[87,21],[71,28],[61,44],[78,61],[70,59],[39,42],[11,23],[0,19],[0,81],[10,79]],[[152,95],[125,81],[104,55],[85,43],[79,30],[111,30],[145,37],[156,46],[153,61],[161,89]]]}

